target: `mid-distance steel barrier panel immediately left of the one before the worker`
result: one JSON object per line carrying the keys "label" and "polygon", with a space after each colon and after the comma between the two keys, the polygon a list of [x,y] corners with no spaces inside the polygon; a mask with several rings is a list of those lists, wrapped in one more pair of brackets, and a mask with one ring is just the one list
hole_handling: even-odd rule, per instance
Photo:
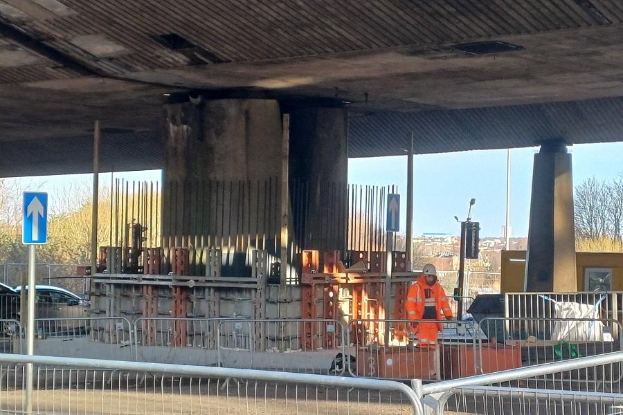
{"label": "mid-distance steel barrier panel immediately left of the one before the worker", "polygon": [[[331,338],[329,349],[311,349],[305,335]],[[224,320],[217,326],[222,367],[307,374],[344,373],[350,356],[346,330],[336,320]]]}

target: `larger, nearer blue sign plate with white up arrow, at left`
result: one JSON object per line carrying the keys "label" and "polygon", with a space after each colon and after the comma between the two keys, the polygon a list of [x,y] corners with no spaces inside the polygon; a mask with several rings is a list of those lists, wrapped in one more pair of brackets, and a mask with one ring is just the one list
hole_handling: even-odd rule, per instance
{"label": "larger, nearer blue sign plate with white up arrow, at left", "polygon": [[48,194],[24,192],[24,223],[21,241],[24,245],[48,243]]}

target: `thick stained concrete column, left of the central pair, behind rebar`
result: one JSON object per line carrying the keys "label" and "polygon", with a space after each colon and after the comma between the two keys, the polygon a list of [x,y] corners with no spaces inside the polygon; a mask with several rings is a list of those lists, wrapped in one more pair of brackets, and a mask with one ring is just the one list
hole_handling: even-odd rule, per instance
{"label": "thick stained concrete column, left of the central pair, behind rebar", "polygon": [[251,273],[254,249],[279,255],[282,122],[276,100],[208,100],[165,106],[161,210],[168,248],[188,248],[190,273],[207,250],[223,252],[224,276]]}

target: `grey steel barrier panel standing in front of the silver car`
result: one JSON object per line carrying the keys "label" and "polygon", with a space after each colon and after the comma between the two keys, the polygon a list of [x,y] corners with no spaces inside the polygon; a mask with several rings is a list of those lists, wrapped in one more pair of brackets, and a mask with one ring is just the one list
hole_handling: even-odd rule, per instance
{"label": "grey steel barrier panel standing in front of the silver car", "polygon": [[134,360],[132,326],[125,317],[36,319],[35,354]]}

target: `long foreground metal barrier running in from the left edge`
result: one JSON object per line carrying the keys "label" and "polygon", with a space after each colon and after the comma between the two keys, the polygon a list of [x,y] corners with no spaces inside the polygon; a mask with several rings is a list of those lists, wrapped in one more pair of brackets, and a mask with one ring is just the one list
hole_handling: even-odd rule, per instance
{"label": "long foreground metal barrier running in from the left edge", "polygon": [[24,414],[27,363],[36,413],[423,414],[415,391],[390,380],[6,354],[1,413]]}

